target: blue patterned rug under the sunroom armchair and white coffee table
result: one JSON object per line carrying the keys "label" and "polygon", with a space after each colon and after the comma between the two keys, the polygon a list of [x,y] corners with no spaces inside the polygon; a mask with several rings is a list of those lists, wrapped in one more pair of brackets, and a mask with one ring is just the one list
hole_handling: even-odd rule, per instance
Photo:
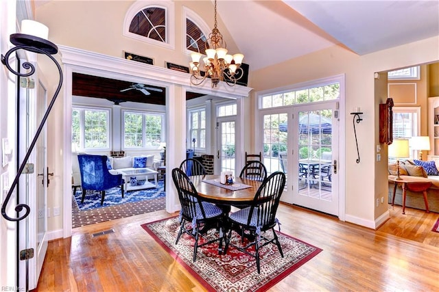
{"label": "blue patterned rug under the sunroom armchair and white coffee table", "polygon": [[104,204],[101,205],[101,192],[100,191],[86,191],[87,194],[82,199],[82,190],[78,189],[75,194],[75,201],[78,204],[80,211],[87,211],[96,208],[116,206],[119,204],[126,204],[130,202],[139,202],[143,200],[151,200],[155,198],[163,198],[166,196],[166,192],[163,190],[163,181],[158,181],[158,188],[153,189],[141,189],[139,191],[125,191],[125,194],[121,194],[120,187],[113,187],[107,189],[105,192]]}

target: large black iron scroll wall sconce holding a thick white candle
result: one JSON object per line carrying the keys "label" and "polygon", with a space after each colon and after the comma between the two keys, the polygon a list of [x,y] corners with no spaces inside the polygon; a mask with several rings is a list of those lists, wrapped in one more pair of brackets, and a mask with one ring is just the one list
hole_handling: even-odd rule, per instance
{"label": "large black iron scroll wall sconce holding a thick white candle", "polygon": [[[43,119],[40,122],[40,125],[38,126],[38,129],[36,130],[34,139],[32,140],[31,144],[29,144],[29,148],[27,149],[26,155],[23,158],[23,162],[20,165],[19,170],[16,173],[16,176],[14,178],[14,181],[11,184],[11,187],[8,191],[8,195],[6,196],[3,204],[1,205],[1,215],[5,217],[6,220],[9,221],[20,221],[25,219],[27,215],[30,213],[30,207],[27,204],[17,204],[15,207],[15,211],[17,214],[23,209],[25,209],[25,213],[21,215],[20,217],[9,217],[6,214],[6,206],[8,205],[8,202],[10,200],[10,197],[12,195],[12,192],[14,191],[16,185],[19,183],[19,178],[21,174],[23,173],[23,170],[26,167],[27,159],[29,159],[29,156],[31,155],[32,150],[34,149],[34,146],[36,144],[36,141],[38,140],[38,136],[40,135],[41,131],[43,130],[43,127],[45,125],[45,122],[47,118],[49,117],[50,111],[52,107],[54,106],[54,103],[56,101],[56,98],[58,97],[58,94],[61,90],[62,85],[62,70],[60,67],[60,64],[56,61],[56,59],[52,56],[56,53],[58,53],[58,47],[56,47],[56,44],[49,42],[47,40],[47,36],[49,33],[49,29],[36,21],[30,21],[30,20],[24,20],[21,22],[21,34],[12,34],[10,36],[10,42],[14,44],[16,47],[13,47],[10,49],[5,55],[1,55],[1,63],[12,72],[12,74],[16,75],[17,77],[29,77],[34,74],[35,67],[29,62],[23,62],[22,66],[25,70],[29,70],[27,73],[20,73],[16,72],[13,68],[11,68],[9,64],[9,57],[12,53],[19,49],[23,49],[25,51],[31,51],[34,53],[40,53],[47,55],[56,65],[58,68],[58,72],[60,75],[60,81],[58,83],[58,88],[56,88],[56,92],[54,94],[54,97],[51,99],[51,102],[49,103],[49,106],[47,107],[47,110],[45,112],[45,115],[43,116]],[[18,216],[18,215],[17,215]]]}

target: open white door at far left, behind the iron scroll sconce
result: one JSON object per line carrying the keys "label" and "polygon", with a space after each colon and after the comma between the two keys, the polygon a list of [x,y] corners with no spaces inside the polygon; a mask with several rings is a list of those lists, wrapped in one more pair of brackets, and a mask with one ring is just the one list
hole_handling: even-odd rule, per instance
{"label": "open white door at far left, behind the iron scroll sconce", "polygon": [[[38,71],[38,70],[37,70]],[[41,73],[38,72],[40,77]],[[34,140],[40,121],[47,109],[47,90],[37,74],[20,79],[18,106],[18,152],[22,163],[29,145]],[[19,287],[35,289],[47,251],[47,133],[40,132],[32,154],[26,163],[28,173],[19,180],[19,200],[31,211],[19,222]],[[25,252],[27,251],[27,253]],[[24,256],[27,254],[27,256]]]}

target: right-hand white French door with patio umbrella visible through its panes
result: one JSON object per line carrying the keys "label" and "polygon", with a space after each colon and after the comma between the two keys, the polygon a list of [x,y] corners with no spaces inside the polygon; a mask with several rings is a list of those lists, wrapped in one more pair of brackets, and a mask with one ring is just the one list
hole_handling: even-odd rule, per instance
{"label": "right-hand white French door with patio umbrella visible through its panes", "polygon": [[293,129],[294,204],[339,215],[337,102],[294,107]]}

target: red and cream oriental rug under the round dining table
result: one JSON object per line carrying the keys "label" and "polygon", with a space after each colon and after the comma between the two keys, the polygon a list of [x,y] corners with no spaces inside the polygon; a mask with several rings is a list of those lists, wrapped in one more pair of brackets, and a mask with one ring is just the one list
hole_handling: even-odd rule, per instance
{"label": "red and cream oriental rug under the round dining table", "polygon": [[[227,254],[219,255],[217,242],[198,248],[197,259],[193,263],[193,239],[184,234],[175,244],[180,227],[178,217],[141,226],[208,291],[266,291],[322,251],[299,239],[277,233],[284,257],[275,245],[265,245],[260,250],[261,274],[258,274],[252,256],[231,246]],[[271,232],[266,235],[271,235]],[[217,237],[217,231],[210,230],[207,237]],[[232,235],[232,240],[235,244],[241,242],[235,235]]]}

